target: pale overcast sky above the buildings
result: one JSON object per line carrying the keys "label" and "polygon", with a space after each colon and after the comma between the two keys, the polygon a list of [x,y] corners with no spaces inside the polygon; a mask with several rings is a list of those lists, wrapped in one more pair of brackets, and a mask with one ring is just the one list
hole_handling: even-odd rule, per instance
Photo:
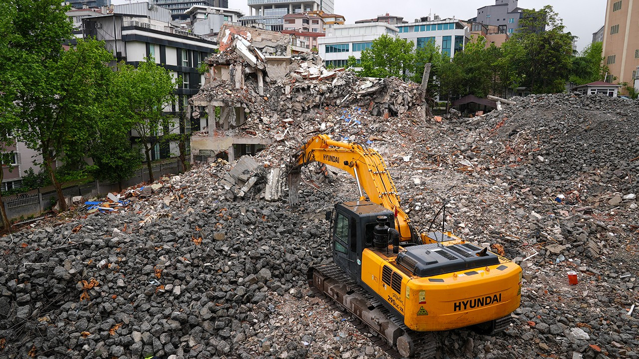
{"label": "pale overcast sky above the buildings", "polygon": [[[135,0],[134,0],[135,1]],[[127,0],[112,0],[114,4]],[[372,19],[377,15],[403,16],[404,20],[413,20],[429,13],[442,18],[455,17],[468,20],[477,16],[477,8],[495,4],[494,0],[335,0],[335,13],[344,15],[347,24],[356,20]],[[552,5],[564,19],[566,30],[579,36],[577,49],[583,50],[591,41],[592,33],[603,26],[606,17],[606,0],[520,0],[520,8],[539,9]],[[249,14],[247,0],[229,0],[229,8],[242,10]]]}

